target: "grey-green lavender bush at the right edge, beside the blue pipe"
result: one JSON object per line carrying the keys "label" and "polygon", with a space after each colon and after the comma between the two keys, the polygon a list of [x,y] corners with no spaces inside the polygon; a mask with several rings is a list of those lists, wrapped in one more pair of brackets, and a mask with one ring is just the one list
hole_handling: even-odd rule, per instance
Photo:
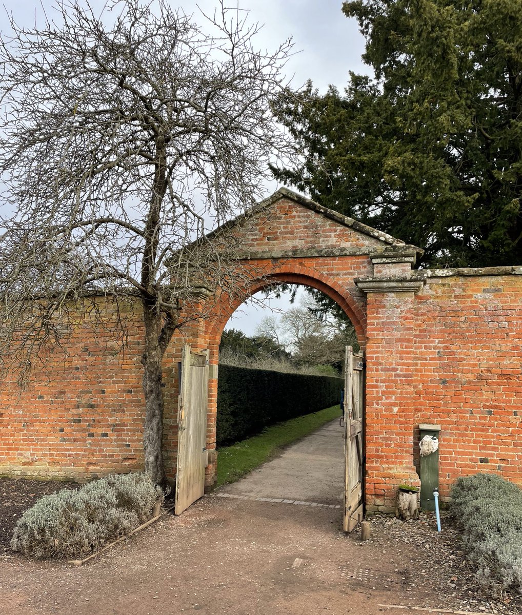
{"label": "grey-green lavender bush at the right edge, beside the blue pipe", "polygon": [[459,478],[451,511],[468,559],[489,592],[522,588],[522,490],[496,474]]}

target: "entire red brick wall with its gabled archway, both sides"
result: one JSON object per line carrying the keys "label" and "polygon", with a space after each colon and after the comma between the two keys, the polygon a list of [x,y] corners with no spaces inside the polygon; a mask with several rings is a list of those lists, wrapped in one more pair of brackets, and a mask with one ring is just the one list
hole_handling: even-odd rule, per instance
{"label": "entire red brick wall with its gabled archway, both sides", "polygon": [[[248,272],[247,294],[305,284],[355,325],[366,352],[368,509],[389,511],[398,485],[419,484],[420,424],[440,429],[443,500],[455,478],[480,470],[522,484],[522,266],[414,270],[419,248],[284,188],[210,239],[226,237],[241,245],[235,258]],[[243,300],[223,292],[202,300],[206,317],[183,328],[166,355],[167,474],[174,481],[188,444],[198,461],[180,468],[177,482],[196,485],[194,497],[215,483],[218,348]],[[139,317],[129,310],[125,352],[82,318],[65,359],[48,357],[52,380],[25,391],[15,391],[15,376],[0,383],[0,474],[84,480],[142,468]],[[204,411],[184,444],[192,386]]]}

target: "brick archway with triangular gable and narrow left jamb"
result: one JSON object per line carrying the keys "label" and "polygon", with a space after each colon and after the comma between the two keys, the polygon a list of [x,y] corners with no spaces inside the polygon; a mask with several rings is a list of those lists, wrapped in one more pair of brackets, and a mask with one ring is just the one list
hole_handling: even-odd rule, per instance
{"label": "brick archway with triangular gable and narrow left jamb", "polygon": [[[218,229],[212,236],[226,249],[240,245],[235,255],[238,267],[252,280],[244,292],[233,296],[219,290],[205,302],[206,319],[195,328],[191,341],[209,348],[211,376],[207,414],[206,488],[216,480],[217,376],[219,343],[233,312],[249,296],[277,282],[299,284],[320,290],[343,309],[353,323],[361,348],[367,343],[366,292],[358,280],[375,273],[409,276],[419,248],[358,223],[286,189],[268,199],[254,216],[244,216]],[[380,268],[380,269],[379,269]],[[189,336],[190,338],[190,336]],[[175,451],[174,451],[175,452]],[[411,469],[408,470],[411,482]],[[414,470],[412,470],[414,472]]]}

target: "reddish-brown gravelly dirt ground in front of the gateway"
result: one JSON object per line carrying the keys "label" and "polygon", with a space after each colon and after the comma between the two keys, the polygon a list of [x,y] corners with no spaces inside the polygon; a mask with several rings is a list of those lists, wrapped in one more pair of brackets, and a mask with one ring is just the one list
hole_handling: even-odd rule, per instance
{"label": "reddish-brown gravelly dirt ground in front of the gateway", "polygon": [[[340,509],[205,496],[87,565],[0,557],[2,615],[376,615],[379,605],[522,613],[489,603],[446,528],[372,520],[342,533]],[[500,610],[499,610],[500,609]]]}

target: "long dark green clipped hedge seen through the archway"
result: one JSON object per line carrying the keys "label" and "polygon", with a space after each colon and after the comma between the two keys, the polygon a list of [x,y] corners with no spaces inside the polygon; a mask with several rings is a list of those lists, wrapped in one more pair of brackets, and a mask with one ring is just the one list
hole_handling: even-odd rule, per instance
{"label": "long dark green clipped hedge seen through the archway", "polygon": [[339,403],[342,378],[219,366],[217,446]]}

